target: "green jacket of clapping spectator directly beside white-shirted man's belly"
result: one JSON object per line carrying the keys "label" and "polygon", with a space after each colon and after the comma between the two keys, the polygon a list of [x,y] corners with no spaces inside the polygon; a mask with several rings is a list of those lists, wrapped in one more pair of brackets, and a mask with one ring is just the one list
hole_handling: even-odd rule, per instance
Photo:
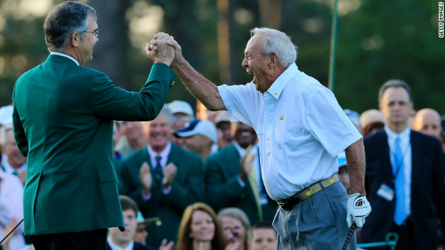
{"label": "green jacket of clapping spectator directly beside white-shirted man's belly", "polygon": [[[249,181],[241,187],[238,176],[241,174],[241,156],[234,144],[230,144],[207,157],[204,163],[205,198],[216,212],[223,208],[240,208],[248,215],[253,225],[259,222],[257,201]],[[264,188],[266,193],[266,188]],[[273,221],[277,212],[277,203],[266,197],[268,203],[261,206],[264,220]]]}

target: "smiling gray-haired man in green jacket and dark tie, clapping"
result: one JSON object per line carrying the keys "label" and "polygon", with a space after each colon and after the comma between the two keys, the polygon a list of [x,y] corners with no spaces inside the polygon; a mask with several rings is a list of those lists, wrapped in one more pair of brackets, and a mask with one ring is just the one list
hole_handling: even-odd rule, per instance
{"label": "smiling gray-haired man in green jacket and dark tie, clapping", "polygon": [[167,106],[152,122],[145,122],[149,145],[122,162],[122,180],[127,194],[145,218],[159,217],[161,225],[147,226],[147,244],[177,240],[186,207],[200,201],[203,192],[200,156],[170,142],[172,114]]}

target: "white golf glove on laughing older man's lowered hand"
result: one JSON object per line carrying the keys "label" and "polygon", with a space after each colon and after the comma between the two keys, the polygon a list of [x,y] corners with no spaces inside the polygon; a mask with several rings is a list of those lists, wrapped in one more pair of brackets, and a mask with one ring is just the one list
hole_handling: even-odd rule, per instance
{"label": "white golf glove on laughing older man's lowered hand", "polygon": [[371,213],[371,205],[365,196],[359,193],[348,195],[348,215],[346,221],[350,227],[355,221],[357,228],[362,228],[364,219]]}

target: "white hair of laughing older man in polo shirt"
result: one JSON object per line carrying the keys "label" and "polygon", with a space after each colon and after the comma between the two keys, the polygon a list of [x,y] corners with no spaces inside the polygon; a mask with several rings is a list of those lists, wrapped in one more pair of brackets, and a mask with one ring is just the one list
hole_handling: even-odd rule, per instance
{"label": "white hair of laughing older man in polo shirt", "polygon": [[283,67],[289,67],[291,63],[297,60],[297,49],[291,41],[291,37],[284,32],[277,31],[273,28],[253,28],[250,30],[250,36],[264,34],[261,47],[261,56],[267,56],[270,53],[277,53],[278,63]]}

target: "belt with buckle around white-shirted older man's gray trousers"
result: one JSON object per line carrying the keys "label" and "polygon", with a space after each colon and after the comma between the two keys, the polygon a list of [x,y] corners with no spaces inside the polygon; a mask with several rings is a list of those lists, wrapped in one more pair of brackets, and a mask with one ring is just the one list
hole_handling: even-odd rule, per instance
{"label": "belt with buckle around white-shirted older man's gray trousers", "polygon": [[339,174],[337,173],[333,174],[332,176],[330,176],[330,178],[326,178],[323,181],[318,181],[318,183],[310,185],[309,188],[306,188],[304,190],[301,190],[300,192],[297,192],[296,194],[293,194],[292,197],[289,197],[282,201],[277,201],[277,203],[278,205],[281,206],[283,210],[291,210],[301,201],[304,201],[305,199],[311,197],[313,194],[316,194],[316,192],[323,190],[339,181],[340,181]]}

